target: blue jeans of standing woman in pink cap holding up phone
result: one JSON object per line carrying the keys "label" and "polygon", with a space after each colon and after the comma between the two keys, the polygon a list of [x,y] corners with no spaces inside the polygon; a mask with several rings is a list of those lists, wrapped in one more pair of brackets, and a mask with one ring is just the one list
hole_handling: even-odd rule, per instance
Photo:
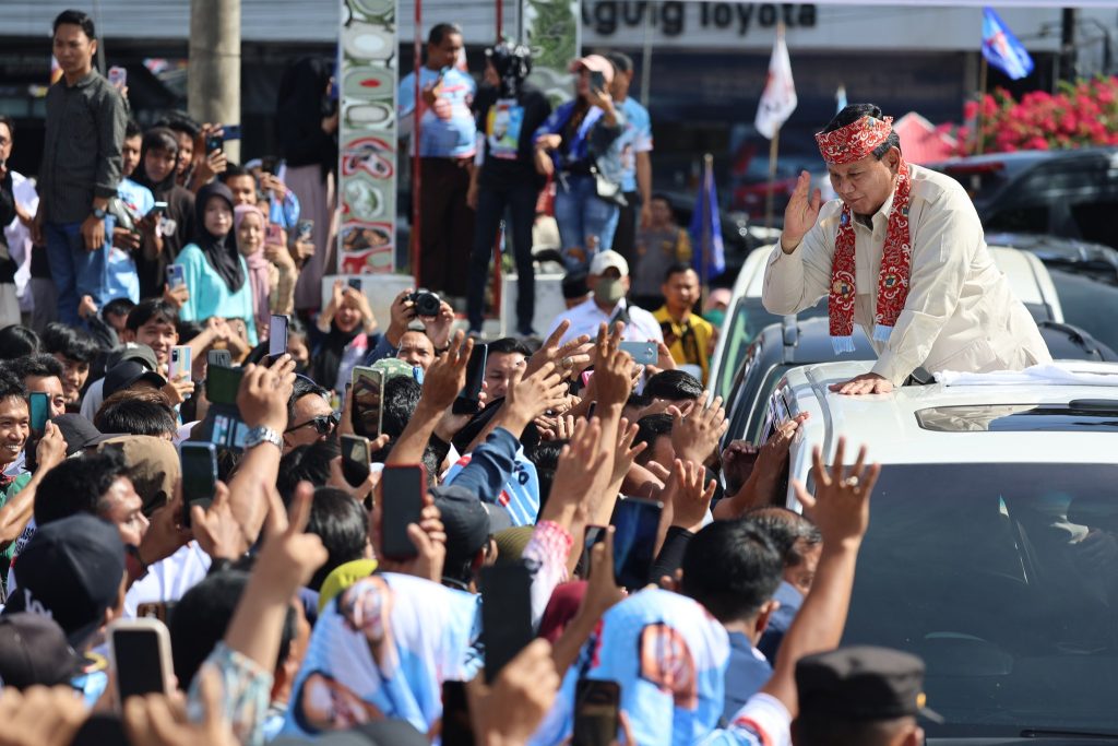
{"label": "blue jeans of standing woman in pink cap holding up phone", "polygon": [[[563,188],[563,180],[567,186]],[[556,223],[567,270],[585,270],[601,247],[614,244],[620,208],[598,197],[593,176],[570,176],[556,190]]]}

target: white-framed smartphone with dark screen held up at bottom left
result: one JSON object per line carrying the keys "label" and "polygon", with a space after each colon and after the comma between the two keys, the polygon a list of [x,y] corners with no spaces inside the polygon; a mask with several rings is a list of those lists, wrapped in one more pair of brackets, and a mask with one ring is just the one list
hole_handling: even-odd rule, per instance
{"label": "white-framed smartphone with dark screen held up at bottom left", "polygon": [[108,664],[116,679],[116,701],[171,691],[171,635],[159,620],[116,620],[108,625]]}

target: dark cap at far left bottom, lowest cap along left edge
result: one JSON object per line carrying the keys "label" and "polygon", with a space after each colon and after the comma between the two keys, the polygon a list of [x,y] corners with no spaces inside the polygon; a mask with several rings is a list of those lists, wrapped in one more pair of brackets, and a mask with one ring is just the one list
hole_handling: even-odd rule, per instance
{"label": "dark cap at far left bottom, lowest cap along left edge", "polygon": [[66,683],[82,672],[82,658],[66,633],[46,616],[0,615],[0,681],[13,689]]}

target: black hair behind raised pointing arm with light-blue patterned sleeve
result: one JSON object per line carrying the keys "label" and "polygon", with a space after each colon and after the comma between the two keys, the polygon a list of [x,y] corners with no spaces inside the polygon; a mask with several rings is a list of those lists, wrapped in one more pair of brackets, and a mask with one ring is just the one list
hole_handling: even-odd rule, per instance
{"label": "black hair behind raised pointing arm with light-blue patterned sleeve", "polygon": [[[208,575],[176,604],[170,624],[171,660],[182,689],[190,686],[202,662],[225,638],[233,613],[248,586],[248,573],[237,569]],[[291,652],[297,631],[295,614],[288,606],[274,668],[280,668]]]}

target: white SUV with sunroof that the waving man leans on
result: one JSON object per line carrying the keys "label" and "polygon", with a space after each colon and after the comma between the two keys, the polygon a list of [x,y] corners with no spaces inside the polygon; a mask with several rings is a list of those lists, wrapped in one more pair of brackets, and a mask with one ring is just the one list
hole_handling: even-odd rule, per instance
{"label": "white SUV with sunroof that the waving man leans on", "polygon": [[929,743],[1118,742],[1118,365],[1064,363],[1112,386],[827,389],[870,365],[794,368],[769,399],[811,413],[789,459],[809,490],[840,435],[882,464],[844,641],[923,658]]}

